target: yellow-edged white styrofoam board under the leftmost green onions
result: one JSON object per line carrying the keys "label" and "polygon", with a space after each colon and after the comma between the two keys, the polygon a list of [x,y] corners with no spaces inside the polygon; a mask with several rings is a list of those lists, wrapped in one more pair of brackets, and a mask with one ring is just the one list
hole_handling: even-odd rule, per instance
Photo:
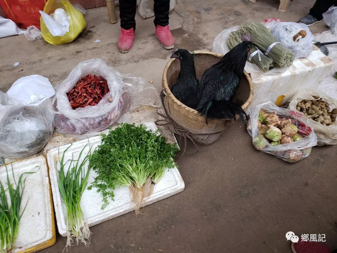
{"label": "yellow-edged white styrofoam board under the leftmost green onions", "polygon": [[[14,178],[18,182],[19,176],[24,172],[36,171],[23,176],[26,181],[20,213],[25,206],[26,209],[20,220],[14,252],[35,252],[53,245],[56,240],[54,212],[45,157],[38,156],[12,163],[14,178],[11,164],[6,166],[10,183],[14,183]],[[4,165],[0,167],[0,181],[7,189],[7,174]],[[9,195],[7,198],[10,204]]]}

